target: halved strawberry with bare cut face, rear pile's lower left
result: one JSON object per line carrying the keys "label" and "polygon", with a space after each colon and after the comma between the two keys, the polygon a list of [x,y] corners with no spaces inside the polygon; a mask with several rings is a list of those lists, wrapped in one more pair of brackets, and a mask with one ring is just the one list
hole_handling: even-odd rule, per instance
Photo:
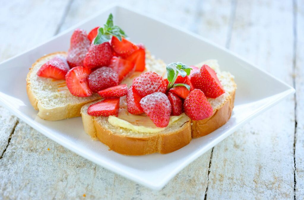
{"label": "halved strawberry with bare cut face, rear pile's lower left", "polygon": [[77,97],[88,97],[92,95],[87,80],[87,76],[90,73],[91,69],[82,66],[74,67],[67,72],[65,81],[71,94]]}

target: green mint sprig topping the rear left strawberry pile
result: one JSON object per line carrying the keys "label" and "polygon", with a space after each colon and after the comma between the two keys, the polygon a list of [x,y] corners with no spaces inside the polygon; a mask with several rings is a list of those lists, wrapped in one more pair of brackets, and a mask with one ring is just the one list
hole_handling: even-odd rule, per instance
{"label": "green mint sprig topping the rear left strawberry pile", "polygon": [[100,27],[97,32],[97,36],[94,40],[94,44],[102,44],[104,42],[109,42],[111,36],[115,36],[121,41],[123,37],[127,37],[126,33],[119,27],[113,24],[113,15],[109,15],[107,22],[103,27]]}

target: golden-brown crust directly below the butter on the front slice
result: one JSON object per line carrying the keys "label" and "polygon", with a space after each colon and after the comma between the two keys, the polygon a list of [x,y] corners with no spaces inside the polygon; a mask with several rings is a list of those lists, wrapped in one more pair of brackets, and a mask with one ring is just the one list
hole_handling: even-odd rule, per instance
{"label": "golden-brown crust directly below the butter on the front slice", "polygon": [[148,137],[128,137],[106,130],[94,120],[97,138],[111,150],[124,155],[167,154],[190,143],[191,120],[185,122],[177,132],[153,134]]}

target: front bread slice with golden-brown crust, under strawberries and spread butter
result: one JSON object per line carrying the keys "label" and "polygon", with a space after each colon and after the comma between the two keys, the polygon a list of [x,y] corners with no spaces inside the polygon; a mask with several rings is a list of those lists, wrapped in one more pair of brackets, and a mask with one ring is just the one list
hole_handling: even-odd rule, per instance
{"label": "front bread slice with golden-brown crust, under strawberries and spread butter", "polygon": [[[152,63],[155,64],[155,62]],[[164,131],[158,133],[133,132],[129,129],[113,126],[109,123],[108,117],[92,117],[88,115],[88,107],[98,102],[95,101],[81,108],[85,132],[94,140],[99,139],[102,141],[111,150],[125,155],[144,155],[156,152],[161,154],[170,153],[187,145],[192,137],[202,137],[211,133],[229,120],[233,109],[236,83],[230,73],[220,71],[216,60],[207,60],[196,66],[200,68],[203,64],[209,65],[216,71],[226,91],[215,99],[208,98],[214,110],[213,115],[208,119],[195,121],[183,115],[181,119],[170,124]],[[150,65],[149,70],[156,71],[163,76],[166,74],[165,69],[160,68],[158,65]]]}

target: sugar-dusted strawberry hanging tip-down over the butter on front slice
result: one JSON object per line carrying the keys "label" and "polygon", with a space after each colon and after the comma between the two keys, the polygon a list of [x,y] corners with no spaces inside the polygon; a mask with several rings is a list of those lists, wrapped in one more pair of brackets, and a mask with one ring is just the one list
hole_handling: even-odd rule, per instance
{"label": "sugar-dusted strawberry hanging tip-down over the butter on front slice", "polygon": [[168,97],[161,92],[155,92],[143,97],[140,105],[145,114],[157,127],[166,127],[169,124],[171,104]]}

